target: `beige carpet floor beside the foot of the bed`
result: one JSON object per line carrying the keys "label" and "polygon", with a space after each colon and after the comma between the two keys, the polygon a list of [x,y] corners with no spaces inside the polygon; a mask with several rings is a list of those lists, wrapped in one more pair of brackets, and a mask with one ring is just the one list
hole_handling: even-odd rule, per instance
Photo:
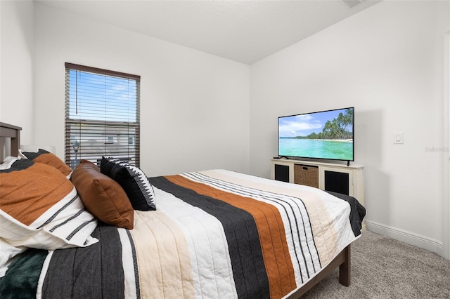
{"label": "beige carpet floor beside the foot of the bed", "polygon": [[352,244],[352,284],[338,270],[303,298],[450,298],[450,260],[436,253],[364,232]]}

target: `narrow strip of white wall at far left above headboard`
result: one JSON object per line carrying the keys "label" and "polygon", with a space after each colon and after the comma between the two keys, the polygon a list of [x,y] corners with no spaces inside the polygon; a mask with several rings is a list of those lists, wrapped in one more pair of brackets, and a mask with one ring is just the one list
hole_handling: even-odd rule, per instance
{"label": "narrow strip of white wall at far left above headboard", "polygon": [[0,121],[33,142],[33,1],[0,1]]}

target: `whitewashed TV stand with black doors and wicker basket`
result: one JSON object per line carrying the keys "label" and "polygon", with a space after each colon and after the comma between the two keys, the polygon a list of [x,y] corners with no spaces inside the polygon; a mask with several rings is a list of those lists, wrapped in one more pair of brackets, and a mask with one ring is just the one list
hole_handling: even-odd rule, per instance
{"label": "whitewashed TV stand with black doors and wicker basket", "polygon": [[347,194],[364,206],[364,165],[271,159],[271,179]]}

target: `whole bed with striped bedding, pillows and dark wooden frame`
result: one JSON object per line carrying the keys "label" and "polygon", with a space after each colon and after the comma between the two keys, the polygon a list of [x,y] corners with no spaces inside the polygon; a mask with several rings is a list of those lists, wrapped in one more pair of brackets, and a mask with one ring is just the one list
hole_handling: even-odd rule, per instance
{"label": "whole bed with striped bedding, pillows and dark wooden frame", "polygon": [[[11,156],[19,154],[20,127],[1,124],[1,136],[11,138]],[[33,235],[25,241],[1,224],[2,254],[11,252],[0,265],[1,298],[299,298],[336,267],[340,283],[350,284],[350,244],[361,236],[365,215],[353,197],[223,169],[144,179],[139,168],[113,157],[103,158],[101,171],[82,161],[70,173],[41,165],[57,160],[48,152],[27,158],[11,167],[26,164],[34,175],[39,166],[33,180],[55,175],[46,182],[72,188],[64,200],[81,205],[83,225],[73,225],[83,229],[68,241],[74,216],[49,229],[51,208],[42,213],[51,220],[39,227],[33,225],[44,216],[15,223],[27,222]],[[122,180],[124,168],[139,173],[132,180],[138,188]],[[4,219],[29,217],[8,205],[5,191],[7,182],[15,184],[8,175],[20,171],[0,171]],[[116,195],[93,196],[98,182],[114,184]]]}

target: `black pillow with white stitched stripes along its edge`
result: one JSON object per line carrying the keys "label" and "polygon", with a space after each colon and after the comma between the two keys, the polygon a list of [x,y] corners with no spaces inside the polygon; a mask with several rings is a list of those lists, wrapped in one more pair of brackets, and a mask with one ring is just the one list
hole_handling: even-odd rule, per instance
{"label": "black pillow with white stitched stripes along its edge", "polygon": [[135,210],[156,210],[153,186],[141,169],[121,159],[103,157],[100,171],[119,183]]}

